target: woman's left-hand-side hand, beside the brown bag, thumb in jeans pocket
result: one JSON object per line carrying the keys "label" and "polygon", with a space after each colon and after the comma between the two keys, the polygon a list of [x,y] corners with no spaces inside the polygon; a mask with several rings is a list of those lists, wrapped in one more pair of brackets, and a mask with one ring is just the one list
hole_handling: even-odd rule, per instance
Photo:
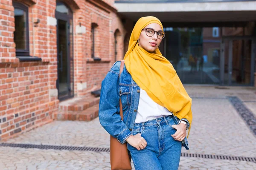
{"label": "woman's left-hand-side hand, beside the brown bag, thumb in jeans pocket", "polygon": [[147,142],[143,137],[141,137],[141,133],[129,136],[126,139],[126,142],[131,144],[131,146],[136,147],[137,150],[144,149],[147,146]]}

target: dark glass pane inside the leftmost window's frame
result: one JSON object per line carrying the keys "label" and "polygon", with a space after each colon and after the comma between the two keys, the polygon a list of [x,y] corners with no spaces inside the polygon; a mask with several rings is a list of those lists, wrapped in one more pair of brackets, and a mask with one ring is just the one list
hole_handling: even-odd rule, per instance
{"label": "dark glass pane inside the leftmost window's frame", "polygon": [[26,50],[26,12],[22,9],[14,9],[15,31],[14,42],[16,49]]}

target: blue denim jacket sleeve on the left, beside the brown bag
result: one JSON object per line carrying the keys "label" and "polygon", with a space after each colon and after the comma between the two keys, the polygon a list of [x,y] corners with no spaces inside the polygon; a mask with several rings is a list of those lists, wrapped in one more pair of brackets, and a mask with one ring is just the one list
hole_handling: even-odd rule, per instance
{"label": "blue denim jacket sleeve on the left, beside the brown bag", "polygon": [[99,100],[99,122],[120,143],[132,135],[119,114],[119,75],[109,71],[102,81]]}

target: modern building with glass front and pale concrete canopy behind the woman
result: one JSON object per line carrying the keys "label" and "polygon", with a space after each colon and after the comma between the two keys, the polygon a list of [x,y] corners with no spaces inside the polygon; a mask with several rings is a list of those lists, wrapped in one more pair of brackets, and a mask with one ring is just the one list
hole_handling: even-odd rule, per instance
{"label": "modern building with glass front and pale concrete canopy behind the woman", "polygon": [[160,51],[183,83],[255,85],[256,1],[116,0],[115,6],[123,20],[161,20]]}

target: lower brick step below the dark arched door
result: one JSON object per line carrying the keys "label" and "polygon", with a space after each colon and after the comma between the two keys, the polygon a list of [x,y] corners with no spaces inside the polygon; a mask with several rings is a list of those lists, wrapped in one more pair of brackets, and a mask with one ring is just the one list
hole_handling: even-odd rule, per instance
{"label": "lower brick step below the dark arched door", "polygon": [[93,105],[84,111],[61,111],[54,114],[55,120],[90,121],[99,116],[99,104]]}

